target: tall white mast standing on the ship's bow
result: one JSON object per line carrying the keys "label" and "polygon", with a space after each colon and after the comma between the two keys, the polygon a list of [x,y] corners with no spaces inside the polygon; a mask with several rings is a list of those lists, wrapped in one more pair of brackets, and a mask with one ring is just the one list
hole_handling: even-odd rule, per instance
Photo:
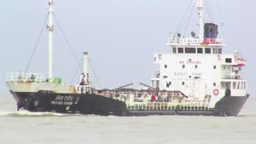
{"label": "tall white mast standing on the ship's bow", "polygon": [[49,6],[49,16],[48,16],[48,48],[49,48],[49,63],[48,63],[48,77],[49,80],[53,77],[52,70],[53,70],[53,31],[54,31],[54,25],[53,25],[53,0],[49,0],[48,6]]}

